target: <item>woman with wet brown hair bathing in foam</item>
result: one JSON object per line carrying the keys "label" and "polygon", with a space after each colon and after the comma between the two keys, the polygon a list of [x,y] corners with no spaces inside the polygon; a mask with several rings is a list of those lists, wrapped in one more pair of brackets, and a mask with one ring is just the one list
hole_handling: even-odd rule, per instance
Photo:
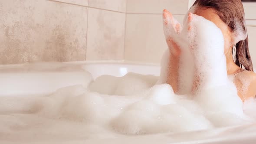
{"label": "woman with wet brown hair bathing in foam", "polygon": [[[249,54],[248,36],[246,31],[245,16],[241,0],[196,0],[193,5],[193,13],[212,21],[223,33],[225,40],[224,53],[226,56],[227,74],[234,76],[239,97],[245,101],[256,96],[256,74],[253,72],[253,64]],[[175,26],[177,31],[180,26]],[[167,41],[174,47],[171,53],[174,67],[179,61],[179,49],[173,41]],[[176,47],[176,49],[175,49]],[[235,61],[233,60],[235,52]],[[175,65],[176,63],[176,65]],[[244,68],[244,69],[242,69]],[[174,70],[175,71],[175,70]],[[177,71],[171,72],[171,79],[167,80],[174,92],[177,92]]]}

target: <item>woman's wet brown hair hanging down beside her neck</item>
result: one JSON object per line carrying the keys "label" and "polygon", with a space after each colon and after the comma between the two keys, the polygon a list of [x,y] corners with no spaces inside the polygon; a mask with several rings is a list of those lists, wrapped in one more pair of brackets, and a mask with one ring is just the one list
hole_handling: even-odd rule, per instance
{"label": "woman's wet brown hair hanging down beside her neck", "polygon": [[[196,0],[193,6],[213,8],[220,19],[226,23],[230,29],[235,31],[236,26],[240,26],[247,34],[243,4],[241,0]],[[235,21],[236,20],[236,21]],[[245,40],[236,43],[235,60],[236,65],[246,70],[253,71],[253,62],[249,53],[248,35]]]}

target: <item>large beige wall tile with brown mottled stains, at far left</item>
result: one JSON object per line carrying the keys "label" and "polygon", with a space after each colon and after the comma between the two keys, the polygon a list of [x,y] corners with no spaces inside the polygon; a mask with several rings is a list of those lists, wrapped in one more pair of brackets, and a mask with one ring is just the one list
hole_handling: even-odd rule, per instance
{"label": "large beige wall tile with brown mottled stains, at far left", "polygon": [[87,7],[0,1],[0,64],[85,60]]}

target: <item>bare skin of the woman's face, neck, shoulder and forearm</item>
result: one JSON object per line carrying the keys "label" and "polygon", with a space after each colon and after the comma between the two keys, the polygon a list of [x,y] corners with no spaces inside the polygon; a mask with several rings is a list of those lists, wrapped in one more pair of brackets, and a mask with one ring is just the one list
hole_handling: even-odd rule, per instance
{"label": "bare skin of the woman's face, neck, shoulder and forearm", "polygon": [[[164,11],[165,12],[165,11]],[[251,71],[241,71],[241,68],[236,65],[236,63],[233,60],[232,57],[232,47],[235,44],[233,42],[234,35],[230,29],[229,26],[224,23],[220,17],[217,15],[217,13],[214,11],[213,8],[205,8],[205,7],[199,7],[194,12],[198,16],[203,16],[205,19],[212,21],[215,23],[217,27],[219,27],[223,33],[224,40],[225,40],[225,56],[226,56],[226,66],[227,66],[227,74],[230,76],[233,76],[233,82],[236,85],[237,92],[239,97],[242,101],[245,101],[248,98],[254,98],[256,96],[256,74]],[[189,16],[190,17],[190,16]],[[180,26],[173,26],[176,28],[176,32],[179,30]],[[188,28],[189,30],[190,28]],[[178,51],[179,47],[176,43],[174,43],[171,39],[166,39],[167,44],[169,48],[176,49],[174,53],[171,53],[172,59],[170,61],[173,61],[175,64],[176,62],[179,62],[179,54]],[[175,61],[175,62],[174,62]],[[171,67],[174,67],[176,65],[171,65]],[[177,67],[176,67],[177,68]],[[173,75],[170,75],[170,77],[176,77],[177,76],[177,69],[174,69]],[[177,92],[177,80],[176,79],[169,79],[167,82],[169,83],[173,88],[174,92]]]}

